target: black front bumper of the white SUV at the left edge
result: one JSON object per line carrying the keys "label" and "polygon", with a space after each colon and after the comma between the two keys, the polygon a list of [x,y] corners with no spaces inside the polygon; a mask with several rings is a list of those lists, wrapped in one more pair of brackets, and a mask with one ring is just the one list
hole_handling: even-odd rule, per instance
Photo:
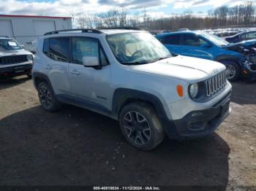
{"label": "black front bumper of the white SUV at the left edge", "polygon": [[0,79],[7,77],[18,77],[25,74],[31,74],[32,64],[18,66],[7,66],[0,68]]}

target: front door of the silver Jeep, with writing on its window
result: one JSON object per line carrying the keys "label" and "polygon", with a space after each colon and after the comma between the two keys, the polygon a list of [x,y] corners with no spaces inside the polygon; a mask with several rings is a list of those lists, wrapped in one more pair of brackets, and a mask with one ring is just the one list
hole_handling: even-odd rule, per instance
{"label": "front door of the silver Jeep, with writing on its window", "polygon": [[[108,107],[110,66],[98,39],[72,37],[72,61],[69,80],[76,103],[85,107]],[[83,57],[99,59],[100,68],[83,66]]]}

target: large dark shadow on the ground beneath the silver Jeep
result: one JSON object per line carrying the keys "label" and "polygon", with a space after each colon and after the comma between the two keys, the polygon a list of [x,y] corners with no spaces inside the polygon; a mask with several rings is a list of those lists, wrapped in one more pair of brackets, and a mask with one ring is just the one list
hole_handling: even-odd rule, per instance
{"label": "large dark shadow on the ground beneath the silver Jeep", "polygon": [[118,122],[74,106],[35,106],[0,120],[1,185],[207,185],[228,182],[230,148],[217,133],[142,152]]}

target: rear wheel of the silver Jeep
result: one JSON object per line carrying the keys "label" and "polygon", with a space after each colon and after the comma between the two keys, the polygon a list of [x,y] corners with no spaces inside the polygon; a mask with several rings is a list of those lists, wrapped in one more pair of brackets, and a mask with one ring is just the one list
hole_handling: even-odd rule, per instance
{"label": "rear wheel of the silver Jeep", "polygon": [[56,112],[61,109],[61,103],[56,99],[53,90],[47,82],[40,82],[38,85],[38,97],[43,109],[48,112]]}

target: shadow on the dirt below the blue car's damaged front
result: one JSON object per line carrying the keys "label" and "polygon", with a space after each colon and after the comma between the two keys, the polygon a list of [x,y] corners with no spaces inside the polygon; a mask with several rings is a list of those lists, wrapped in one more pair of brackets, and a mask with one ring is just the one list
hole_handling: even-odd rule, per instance
{"label": "shadow on the dirt below the blue car's damaged front", "polygon": [[231,101],[240,105],[256,104],[256,83],[255,82],[232,82],[233,92]]}

